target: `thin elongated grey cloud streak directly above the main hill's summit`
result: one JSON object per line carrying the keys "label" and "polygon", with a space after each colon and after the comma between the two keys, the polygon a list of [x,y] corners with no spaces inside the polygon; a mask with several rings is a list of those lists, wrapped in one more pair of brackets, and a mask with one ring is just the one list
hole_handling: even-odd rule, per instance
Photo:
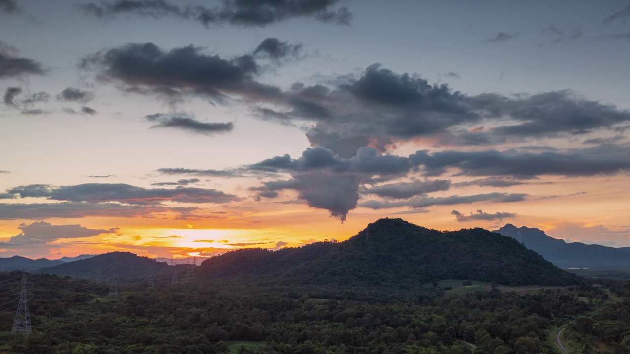
{"label": "thin elongated grey cloud streak directly above the main hill's summit", "polygon": [[418,209],[431,207],[433,205],[470,204],[476,202],[520,202],[521,200],[525,200],[525,197],[527,197],[527,194],[523,193],[485,193],[476,195],[450,195],[449,197],[416,197],[398,202],[390,202],[389,200],[367,200],[366,202],[360,203],[360,206],[374,210],[399,207]]}

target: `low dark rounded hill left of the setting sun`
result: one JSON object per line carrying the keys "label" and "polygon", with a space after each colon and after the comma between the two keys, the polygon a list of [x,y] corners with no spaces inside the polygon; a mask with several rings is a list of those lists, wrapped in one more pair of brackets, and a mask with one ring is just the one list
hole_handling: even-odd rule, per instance
{"label": "low dark rounded hill left of the setting sun", "polygon": [[165,262],[157,262],[134,253],[110,252],[42,268],[38,273],[100,282],[117,280],[123,283],[146,283],[151,278],[155,282],[171,280],[173,270],[174,268]]}

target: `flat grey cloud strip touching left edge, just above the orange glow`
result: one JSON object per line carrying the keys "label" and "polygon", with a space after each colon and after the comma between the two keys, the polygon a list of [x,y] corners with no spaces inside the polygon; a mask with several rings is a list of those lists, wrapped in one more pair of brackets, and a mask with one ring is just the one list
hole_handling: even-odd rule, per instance
{"label": "flat grey cloud strip touching left edge, just above the orange glow", "polygon": [[[184,210],[185,209],[185,210]],[[152,218],[156,214],[195,212],[198,208],[168,208],[163,205],[122,205],[118,203],[0,203],[0,220],[41,220],[82,217]]]}

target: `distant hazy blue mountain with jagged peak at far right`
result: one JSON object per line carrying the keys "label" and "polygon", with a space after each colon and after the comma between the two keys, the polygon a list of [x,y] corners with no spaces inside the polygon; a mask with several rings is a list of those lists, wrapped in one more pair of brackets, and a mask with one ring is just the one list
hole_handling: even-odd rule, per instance
{"label": "distant hazy blue mountain with jagged peak at far right", "polygon": [[496,230],[525,247],[540,253],[560,268],[630,268],[630,248],[613,248],[599,244],[565,243],[547,236],[541,229],[507,224]]}

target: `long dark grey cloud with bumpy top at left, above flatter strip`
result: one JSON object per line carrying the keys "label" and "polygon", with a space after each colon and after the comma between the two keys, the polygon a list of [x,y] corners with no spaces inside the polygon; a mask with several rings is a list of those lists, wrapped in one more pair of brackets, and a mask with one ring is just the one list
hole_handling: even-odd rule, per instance
{"label": "long dark grey cloud with bumpy top at left, above flatter strip", "polygon": [[121,202],[137,205],[161,202],[228,203],[241,198],[222,191],[204,188],[142,188],[110,183],[86,183],[76,186],[27,185],[10,188],[6,193],[26,197],[45,197],[67,202]]}

